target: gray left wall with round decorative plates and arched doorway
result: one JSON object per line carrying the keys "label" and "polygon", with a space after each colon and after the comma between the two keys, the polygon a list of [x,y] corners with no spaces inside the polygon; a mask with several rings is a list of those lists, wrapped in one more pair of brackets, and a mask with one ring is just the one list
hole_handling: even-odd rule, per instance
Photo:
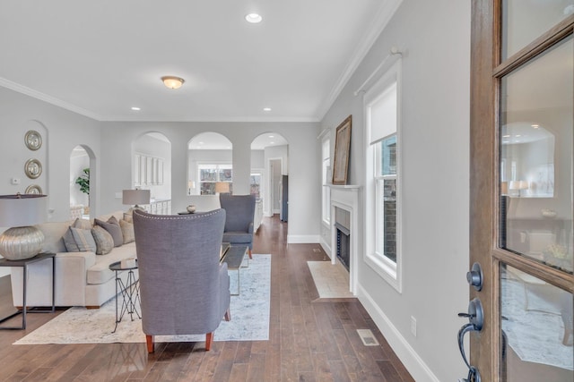
{"label": "gray left wall with round decorative plates and arched doorway", "polygon": [[[74,147],[83,145],[95,157],[91,174],[92,193],[100,190],[100,123],[30,98],[11,89],[0,87],[0,193],[24,192],[30,183],[39,184],[48,195],[50,220],[65,220],[70,214],[70,154]],[[42,133],[43,144],[38,151],[31,151],[24,145],[24,134],[30,130]],[[42,174],[30,180],[24,174],[24,163],[29,158],[38,158],[42,163]],[[12,185],[10,179],[21,179],[20,185]],[[96,198],[94,198],[96,199]],[[97,200],[92,208],[98,209]]]}

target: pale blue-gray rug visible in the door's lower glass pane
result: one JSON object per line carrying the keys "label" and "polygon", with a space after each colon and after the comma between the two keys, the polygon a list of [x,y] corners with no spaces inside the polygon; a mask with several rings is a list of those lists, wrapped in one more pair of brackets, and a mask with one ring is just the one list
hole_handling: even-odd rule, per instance
{"label": "pale blue-gray rug visible in the door's lower glass pane", "polygon": [[535,293],[526,295],[524,286],[516,280],[502,280],[502,329],[508,343],[522,361],[574,369],[572,346],[561,343],[564,325],[556,307]]}

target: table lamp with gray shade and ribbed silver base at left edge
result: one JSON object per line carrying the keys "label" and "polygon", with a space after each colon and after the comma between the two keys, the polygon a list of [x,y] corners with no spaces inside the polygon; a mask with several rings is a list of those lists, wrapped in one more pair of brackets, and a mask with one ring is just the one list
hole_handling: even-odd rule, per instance
{"label": "table lamp with gray shade and ribbed silver base at left edge", "polygon": [[46,221],[47,195],[0,195],[0,255],[9,260],[30,259],[39,254],[44,242],[35,224]]}

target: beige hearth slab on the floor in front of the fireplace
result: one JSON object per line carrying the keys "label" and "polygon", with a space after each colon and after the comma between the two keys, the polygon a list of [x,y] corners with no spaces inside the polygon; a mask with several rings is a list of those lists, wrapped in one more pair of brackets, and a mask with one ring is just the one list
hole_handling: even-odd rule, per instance
{"label": "beige hearth slab on the floor in front of the fireplace", "polygon": [[349,272],[337,261],[308,261],[319,299],[354,298],[349,292]]}

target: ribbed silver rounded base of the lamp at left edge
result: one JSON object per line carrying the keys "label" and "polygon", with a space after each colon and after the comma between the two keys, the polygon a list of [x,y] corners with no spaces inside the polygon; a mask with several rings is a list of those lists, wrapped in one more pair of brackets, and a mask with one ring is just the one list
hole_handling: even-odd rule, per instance
{"label": "ribbed silver rounded base of the lamp at left edge", "polygon": [[8,228],[0,235],[0,255],[9,260],[30,259],[39,254],[44,233],[35,226]]}

